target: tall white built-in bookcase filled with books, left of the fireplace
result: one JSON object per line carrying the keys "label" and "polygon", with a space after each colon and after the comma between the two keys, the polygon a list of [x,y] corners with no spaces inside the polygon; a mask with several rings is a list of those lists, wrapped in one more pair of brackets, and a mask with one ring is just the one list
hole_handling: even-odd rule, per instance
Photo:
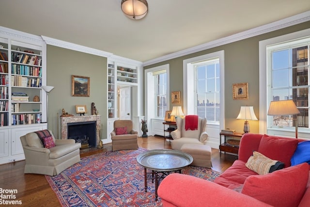
{"label": "tall white built-in bookcase filled with books, left of the fireplace", "polygon": [[25,159],[19,137],[47,128],[46,44],[0,27],[0,164]]}

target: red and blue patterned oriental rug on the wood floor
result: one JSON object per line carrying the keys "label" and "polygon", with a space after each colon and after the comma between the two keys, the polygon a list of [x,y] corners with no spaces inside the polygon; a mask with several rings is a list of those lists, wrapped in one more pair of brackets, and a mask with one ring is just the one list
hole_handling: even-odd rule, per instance
{"label": "red and blue patterned oriental rug on the wood floor", "polygon": [[[161,207],[160,197],[155,201],[152,180],[144,191],[144,168],[136,160],[144,151],[139,148],[91,155],[46,178],[63,207]],[[210,181],[220,175],[194,166],[184,168],[182,173]]]}

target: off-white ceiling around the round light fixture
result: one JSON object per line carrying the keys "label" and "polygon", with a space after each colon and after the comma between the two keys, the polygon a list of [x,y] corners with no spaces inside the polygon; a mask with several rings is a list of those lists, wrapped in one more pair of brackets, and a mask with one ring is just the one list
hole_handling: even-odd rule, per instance
{"label": "off-white ceiling around the round light fixture", "polygon": [[309,0],[147,0],[127,18],[121,0],[0,0],[0,26],[145,62],[310,11]]}

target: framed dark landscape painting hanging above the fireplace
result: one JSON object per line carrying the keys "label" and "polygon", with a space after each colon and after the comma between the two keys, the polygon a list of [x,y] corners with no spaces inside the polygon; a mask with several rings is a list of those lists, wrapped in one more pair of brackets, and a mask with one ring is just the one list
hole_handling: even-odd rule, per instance
{"label": "framed dark landscape painting hanging above the fireplace", "polygon": [[71,77],[71,96],[89,97],[90,78],[85,76]]}

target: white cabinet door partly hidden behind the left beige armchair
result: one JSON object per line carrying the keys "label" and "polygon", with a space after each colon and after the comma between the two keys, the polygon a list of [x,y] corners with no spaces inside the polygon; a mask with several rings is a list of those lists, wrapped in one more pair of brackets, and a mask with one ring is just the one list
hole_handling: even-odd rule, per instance
{"label": "white cabinet door partly hidden behind the left beige armchair", "polygon": [[33,132],[33,131],[39,131],[43,130],[43,126],[31,126],[31,127],[18,127],[18,128],[12,128],[12,155],[18,155],[18,154],[23,154],[23,146],[21,145],[20,142],[20,137]]}

